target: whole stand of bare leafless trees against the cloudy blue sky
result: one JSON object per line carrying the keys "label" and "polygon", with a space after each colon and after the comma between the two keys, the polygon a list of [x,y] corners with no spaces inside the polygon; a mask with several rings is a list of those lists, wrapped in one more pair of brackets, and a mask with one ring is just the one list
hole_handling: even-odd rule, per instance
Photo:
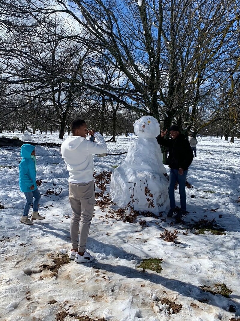
{"label": "whole stand of bare leafless trees against the cloudy blue sky", "polygon": [[239,136],[240,0],[3,0],[0,130]]}

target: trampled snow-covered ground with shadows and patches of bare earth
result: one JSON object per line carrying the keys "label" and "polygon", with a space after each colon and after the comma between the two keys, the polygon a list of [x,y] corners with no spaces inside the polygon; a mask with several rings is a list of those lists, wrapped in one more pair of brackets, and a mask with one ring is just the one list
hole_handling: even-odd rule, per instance
{"label": "trampled snow-covered ground with shadows and patches of bare earth", "polygon": [[[1,136],[21,138],[16,133]],[[31,137],[34,142],[61,143],[57,134]],[[135,139],[119,136],[116,143],[107,143],[108,152],[127,151]],[[229,144],[216,137],[198,137],[198,142],[197,158],[188,171],[193,187],[187,188],[189,214],[184,222],[177,224],[163,213],[124,223],[114,212],[116,206],[103,211],[96,206],[87,245],[96,259],[87,264],[68,262],[64,255],[70,249],[71,210],[60,148],[36,147],[37,179],[42,180],[39,212],[46,219],[33,226],[19,222],[25,201],[18,188],[20,148],[1,148],[0,319],[238,320],[240,142]],[[95,170],[112,170],[124,157],[94,156]],[[48,190],[58,195],[47,195]],[[177,191],[176,199],[179,205]],[[199,220],[212,221],[225,234],[196,234],[193,225]],[[177,242],[160,237],[165,229],[178,236]],[[49,266],[60,257],[54,273]],[[138,267],[149,258],[163,259],[161,273]],[[229,298],[201,288],[220,290],[217,284],[232,291]],[[175,314],[170,309],[173,302],[180,305]]]}

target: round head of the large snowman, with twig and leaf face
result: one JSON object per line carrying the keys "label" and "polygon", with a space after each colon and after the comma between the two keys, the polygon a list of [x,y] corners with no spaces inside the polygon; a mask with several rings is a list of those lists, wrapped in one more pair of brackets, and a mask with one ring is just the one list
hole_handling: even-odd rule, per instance
{"label": "round head of the large snowman, with twig and leaf face", "polygon": [[160,134],[160,125],[156,118],[143,116],[133,124],[134,133],[141,138],[155,138]]}

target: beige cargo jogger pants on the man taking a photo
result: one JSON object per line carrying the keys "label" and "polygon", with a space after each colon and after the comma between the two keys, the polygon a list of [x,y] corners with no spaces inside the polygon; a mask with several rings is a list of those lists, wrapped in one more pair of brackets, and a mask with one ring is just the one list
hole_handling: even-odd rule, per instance
{"label": "beige cargo jogger pants on the man taking a photo", "polygon": [[93,180],[89,183],[69,183],[69,203],[73,211],[70,222],[72,248],[78,247],[78,252],[84,252],[95,204]]}

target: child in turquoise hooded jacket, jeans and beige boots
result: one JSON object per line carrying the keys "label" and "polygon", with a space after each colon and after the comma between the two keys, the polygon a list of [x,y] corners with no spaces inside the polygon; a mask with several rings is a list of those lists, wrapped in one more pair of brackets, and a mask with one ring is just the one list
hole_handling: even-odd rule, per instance
{"label": "child in turquoise hooded jacket, jeans and beige boots", "polygon": [[[19,165],[19,187],[26,196],[23,215],[20,222],[33,225],[32,220],[44,220],[44,216],[38,213],[38,202],[41,198],[36,185],[36,152],[35,147],[30,144],[23,144],[21,147],[22,160]],[[33,204],[33,213],[30,220],[28,212]]]}

